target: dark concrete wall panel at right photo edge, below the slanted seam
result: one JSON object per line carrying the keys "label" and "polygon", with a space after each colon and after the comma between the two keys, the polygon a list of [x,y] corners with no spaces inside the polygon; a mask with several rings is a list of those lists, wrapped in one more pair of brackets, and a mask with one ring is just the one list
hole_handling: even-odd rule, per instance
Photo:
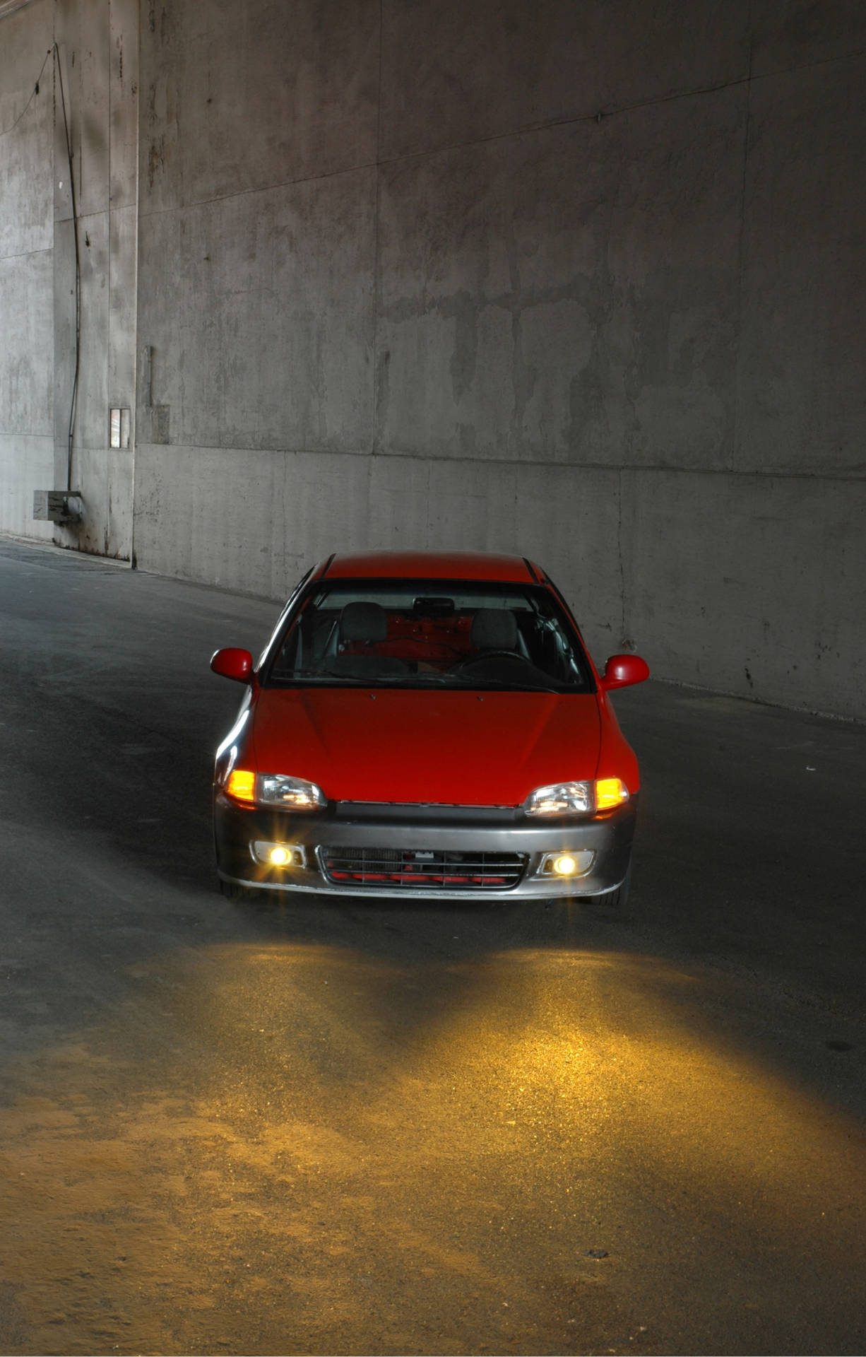
{"label": "dark concrete wall panel at right photo edge, below the slanted seam", "polygon": [[739,470],[866,472],[866,62],[756,83]]}

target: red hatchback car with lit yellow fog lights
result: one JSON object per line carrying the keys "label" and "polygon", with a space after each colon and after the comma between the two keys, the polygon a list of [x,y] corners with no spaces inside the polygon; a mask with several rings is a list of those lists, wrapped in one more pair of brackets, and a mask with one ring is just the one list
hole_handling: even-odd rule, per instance
{"label": "red hatchback car with lit yellow fog lights", "polygon": [[625,900],[638,769],[553,581],[520,556],[331,556],[245,684],[214,772],[217,867],[249,890]]}

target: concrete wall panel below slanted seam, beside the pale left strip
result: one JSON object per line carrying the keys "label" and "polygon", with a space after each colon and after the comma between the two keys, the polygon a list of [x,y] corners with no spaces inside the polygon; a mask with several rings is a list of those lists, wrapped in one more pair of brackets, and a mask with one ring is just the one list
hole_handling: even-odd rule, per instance
{"label": "concrete wall panel below slanted seam, beside the pale left strip", "polygon": [[374,204],[362,170],[145,217],[140,437],[150,400],[171,442],[369,451]]}

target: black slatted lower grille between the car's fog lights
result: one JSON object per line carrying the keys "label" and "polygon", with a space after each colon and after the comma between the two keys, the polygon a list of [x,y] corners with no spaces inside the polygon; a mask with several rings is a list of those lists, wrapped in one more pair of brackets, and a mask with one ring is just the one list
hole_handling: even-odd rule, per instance
{"label": "black slatted lower grille between the car's fog lights", "polygon": [[320,848],[335,886],[409,886],[419,890],[506,890],[526,870],[520,852],[434,852],[412,848]]}

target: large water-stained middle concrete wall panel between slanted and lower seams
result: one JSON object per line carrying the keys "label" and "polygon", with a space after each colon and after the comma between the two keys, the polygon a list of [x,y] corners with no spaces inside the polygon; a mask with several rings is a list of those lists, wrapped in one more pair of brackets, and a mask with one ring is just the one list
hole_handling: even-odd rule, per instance
{"label": "large water-stained middle concrete wall panel between slanted and lower seams", "polygon": [[745,92],[382,174],[378,446],[726,467]]}

